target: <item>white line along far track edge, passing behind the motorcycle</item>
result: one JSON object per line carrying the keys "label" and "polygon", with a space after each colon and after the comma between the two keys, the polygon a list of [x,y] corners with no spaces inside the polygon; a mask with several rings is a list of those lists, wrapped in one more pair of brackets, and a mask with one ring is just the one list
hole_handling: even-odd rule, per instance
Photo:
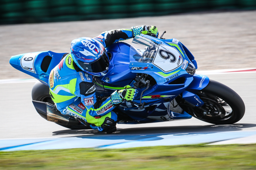
{"label": "white line along far track edge, passing behind the motorcycle", "polygon": [[[256,72],[256,68],[196,71],[197,74],[203,74],[203,75],[248,73],[248,72]],[[37,79],[4,79],[4,80],[0,80],[0,84],[5,84],[5,83],[32,83],[32,82],[37,82]]]}

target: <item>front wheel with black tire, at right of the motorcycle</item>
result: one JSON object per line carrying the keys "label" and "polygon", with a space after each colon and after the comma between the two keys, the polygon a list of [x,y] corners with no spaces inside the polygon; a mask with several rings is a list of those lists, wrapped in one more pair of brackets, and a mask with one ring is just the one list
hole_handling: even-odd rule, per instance
{"label": "front wheel with black tire, at right of the motorcycle", "polygon": [[191,116],[212,124],[233,124],[242,119],[245,105],[241,97],[226,85],[210,80],[209,84],[197,95],[204,102],[202,110],[193,108]]}

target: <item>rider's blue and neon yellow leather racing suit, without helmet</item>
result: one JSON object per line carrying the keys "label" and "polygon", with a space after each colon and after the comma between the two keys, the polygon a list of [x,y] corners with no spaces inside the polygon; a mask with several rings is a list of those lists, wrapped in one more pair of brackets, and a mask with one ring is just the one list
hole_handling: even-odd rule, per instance
{"label": "rider's blue and neon yellow leather racing suit, without helmet", "polygon": [[[111,30],[94,39],[106,48],[119,40],[140,35],[145,30],[147,32],[146,26]],[[101,128],[107,128],[117,121],[117,115],[112,111],[111,97],[99,98],[95,95],[93,76],[83,72],[73,62],[70,53],[51,71],[49,87],[52,100],[61,114],[80,118]]]}

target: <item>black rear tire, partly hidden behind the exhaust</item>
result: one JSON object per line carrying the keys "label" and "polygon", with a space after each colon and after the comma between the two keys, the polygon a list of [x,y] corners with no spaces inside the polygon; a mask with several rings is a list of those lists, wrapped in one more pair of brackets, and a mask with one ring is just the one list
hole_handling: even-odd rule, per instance
{"label": "black rear tire, partly hidden behind the exhaust", "polygon": [[[48,102],[54,105],[54,102],[52,101],[52,98],[49,94],[49,86],[41,83],[40,81],[37,81],[32,88],[32,100]],[[69,124],[64,125],[59,123],[56,123],[56,124],[61,125],[68,129],[91,129],[91,127],[89,126],[89,123],[87,122],[84,122],[86,124],[85,126],[82,123],[80,123],[78,120],[74,119],[73,117],[70,117],[69,119],[70,119],[69,124],[72,124],[72,125],[69,125]],[[77,125],[73,125],[73,124],[77,124]]]}

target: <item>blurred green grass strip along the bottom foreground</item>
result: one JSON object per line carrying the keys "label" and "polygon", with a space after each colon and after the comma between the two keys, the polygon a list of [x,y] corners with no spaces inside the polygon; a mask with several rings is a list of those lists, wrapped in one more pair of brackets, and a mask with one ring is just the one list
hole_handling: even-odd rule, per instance
{"label": "blurred green grass strip along the bottom foreground", "polygon": [[256,169],[256,144],[0,152],[0,169]]}

